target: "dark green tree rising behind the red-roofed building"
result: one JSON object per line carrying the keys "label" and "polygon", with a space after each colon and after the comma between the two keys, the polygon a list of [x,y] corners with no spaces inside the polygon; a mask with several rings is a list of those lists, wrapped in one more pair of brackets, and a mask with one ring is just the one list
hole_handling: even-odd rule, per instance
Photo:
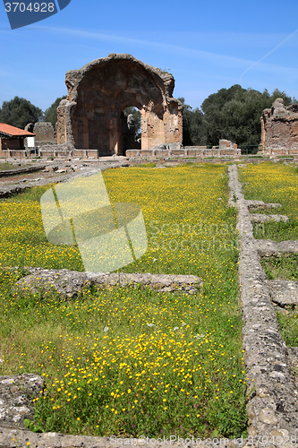
{"label": "dark green tree rising behind the red-roofed building", "polygon": [[23,129],[29,123],[41,121],[43,112],[27,99],[14,97],[0,108],[0,122]]}

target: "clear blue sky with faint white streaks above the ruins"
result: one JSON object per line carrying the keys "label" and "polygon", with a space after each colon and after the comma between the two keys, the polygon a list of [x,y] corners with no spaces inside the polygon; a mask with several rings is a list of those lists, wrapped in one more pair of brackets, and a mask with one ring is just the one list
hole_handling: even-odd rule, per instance
{"label": "clear blue sky with faint white streaks above the ruins", "polygon": [[11,30],[1,3],[0,107],[17,95],[45,110],[68,70],[110,53],[168,69],[192,108],[236,83],[298,99],[297,17],[297,0],[72,0]]}

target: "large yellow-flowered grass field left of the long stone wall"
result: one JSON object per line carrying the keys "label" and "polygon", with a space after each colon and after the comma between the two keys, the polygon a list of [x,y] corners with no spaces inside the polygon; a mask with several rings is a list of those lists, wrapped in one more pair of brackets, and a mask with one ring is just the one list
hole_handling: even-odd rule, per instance
{"label": "large yellow-flowered grass field left of the long stone wall", "polygon": [[0,374],[38,373],[47,388],[31,427],[86,435],[245,435],[235,211],[226,167],[103,173],[112,202],[142,210],[149,248],[127,272],[194,274],[196,295],[149,289],[16,290],[22,266],[83,270],[76,246],[47,243],[45,187],[0,203]]}

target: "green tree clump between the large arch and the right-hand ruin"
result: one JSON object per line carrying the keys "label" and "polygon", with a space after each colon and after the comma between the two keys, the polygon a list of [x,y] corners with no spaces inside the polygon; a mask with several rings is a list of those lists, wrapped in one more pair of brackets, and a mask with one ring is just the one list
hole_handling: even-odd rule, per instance
{"label": "green tree clump between the large arch and the right-hand ruin", "polygon": [[284,91],[243,89],[235,84],[229,89],[218,90],[205,99],[201,110],[192,110],[183,102],[183,145],[217,146],[220,139],[231,140],[241,149],[251,149],[260,144],[260,116],[265,108],[271,108],[277,98],[283,98],[285,106],[291,99]]}

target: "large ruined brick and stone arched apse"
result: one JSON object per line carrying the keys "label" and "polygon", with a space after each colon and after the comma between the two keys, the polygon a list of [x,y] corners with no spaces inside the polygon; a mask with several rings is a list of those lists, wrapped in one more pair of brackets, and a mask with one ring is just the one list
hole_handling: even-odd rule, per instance
{"label": "large ruined brick and stone arched apse", "polygon": [[120,154],[121,112],[139,108],[141,149],[182,144],[183,105],[175,80],[131,55],[114,53],[66,73],[67,99],[57,108],[57,143],[98,155]]}

